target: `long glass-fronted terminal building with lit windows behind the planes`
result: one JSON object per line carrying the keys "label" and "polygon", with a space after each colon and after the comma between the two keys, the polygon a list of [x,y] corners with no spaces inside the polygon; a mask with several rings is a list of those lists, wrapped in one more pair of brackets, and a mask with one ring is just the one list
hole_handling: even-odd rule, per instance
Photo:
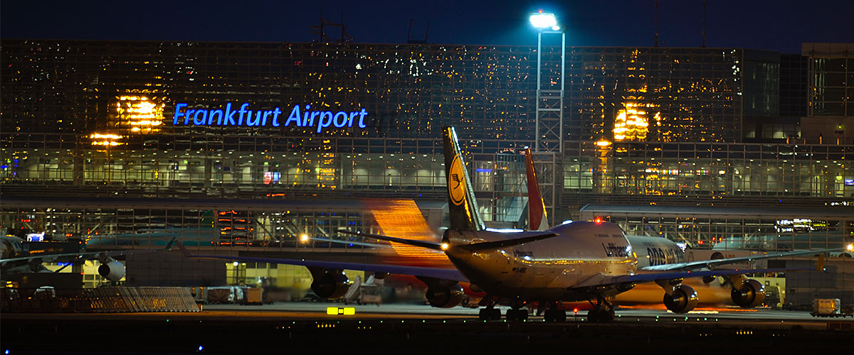
{"label": "long glass-fronted terminal building with lit windows behind the planes", "polygon": [[[531,146],[552,224],[840,247],[852,49],[567,47],[562,62],[560,46],[3,39],[0,225],[89,249],[371,254],[336,231],[393,230],[389,206],[443,226],[454,126],[490,226],[527,227]],[[216,279],[293,277],[270,267]]]}

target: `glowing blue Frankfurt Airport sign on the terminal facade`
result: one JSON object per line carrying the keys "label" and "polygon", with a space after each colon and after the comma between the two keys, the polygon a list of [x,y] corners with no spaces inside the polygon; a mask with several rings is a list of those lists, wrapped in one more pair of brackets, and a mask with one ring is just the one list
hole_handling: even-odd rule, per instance
{"label": "glowing blue Frankfurt Airport sign on the terminal facade", "polygon": [[187,108],[187,104],[178,103],[175,105],[175,114],[172,124],[196,125],[196,126],[246,126],[246,127],[311,127],[316,128],[316,132],[320,133],[327,127],[359,127],[364,129],[365,117],[368,112],[365,109],[360,111],[311,111],[311,105],[306,105],[301,108],[299,105],[294,105],[290,110],[290,115],[280,123],[279,115],[282,112],[278,107],[272,110],[249,110],[249,103],[243,103],[239,109],[237,105],[231,106],[231,102],[225,103],[225,110],[222,109],[192,109]]}

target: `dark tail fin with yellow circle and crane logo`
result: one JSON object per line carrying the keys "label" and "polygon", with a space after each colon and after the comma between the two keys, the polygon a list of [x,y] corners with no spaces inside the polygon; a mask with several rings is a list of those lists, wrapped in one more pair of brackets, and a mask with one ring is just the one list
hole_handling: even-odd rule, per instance
{"label": "dark tail fin with yellow circle and crane logo", "polygon": [[457,132],[453,127],[442,128],[442,143],[445,151],[450,228],[458,231],[483,231],[485,226],[477,213],[475,192],[471,188],[469,173],[465,169],[463,154],[459,150]]}

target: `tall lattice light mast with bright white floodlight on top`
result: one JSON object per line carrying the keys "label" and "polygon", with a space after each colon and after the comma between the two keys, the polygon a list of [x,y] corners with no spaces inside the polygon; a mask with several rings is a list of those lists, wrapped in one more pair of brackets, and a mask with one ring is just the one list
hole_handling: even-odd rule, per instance
{"label": "tall lattice light mast with bright white floodlight on top", "polygon": [[[536,129],[534,154],[535,163],[541,177],[540,190],[549,214],[555,214],[558,205],[559,191],[562,191],[563,180],[559,179],[558,171],[562,167],[564,154],[564,58],[566,57],[566,35],[560,30],[554,14],[530,15],[531,25],[537,29],[536,41]],[[542,87],[542,35],[560,34],[560,77],[553,71],[547,80],[547,88]],[[560,81],[560,89],[553,89],[553,83]],[[557,220],[555,220],[557,221]]]}

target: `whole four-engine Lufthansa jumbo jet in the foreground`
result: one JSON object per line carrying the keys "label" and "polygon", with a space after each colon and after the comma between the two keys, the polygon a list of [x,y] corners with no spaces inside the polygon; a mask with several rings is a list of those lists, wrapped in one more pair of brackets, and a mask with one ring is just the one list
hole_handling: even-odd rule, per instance
{"label": "whole four-engine Lufthansa jumbo jet in the foreground", "polygon": [[[664,305],[672,312],[684,313],[697,305],[697,293],[684,278],[727,276],[734,280],[734,295],[744,306],[757,306],[763,294],[762,283],[747,279],[745,273],[783,272],[791,269],[709,270],[730,260],[677,262],[676,249],[635,251],[623,230],[605,221],[576,221],[553,226],[546,231],[496,230],[487,228],[477,211],[477,200],[465,169],[462,152],[453,127],[442,129],[447,179],[450,225],[440,242],[395,238],[379,234],[338,232],[393,243],[403,243],[442,251],[455,269],[425,266],[372,265],[363,263],[310,261],[277,258],[192,255],[181,243],[178,248],[188,258],[258,261],[307,266],[312,273],[311,288],[320,297],[344,295],[349,281],[342,270],[375,272],[379,278],[391,273],[412,275],[427,284],[426,298],[431,306],[451,307],[462,300],[459,283],[468,282],[485,291],[488,297],[480,310],[483,320],[500,319],[496,301],[510,301],[508,320],[528,317],[524,306],[536,302],[547,306],[545,319],[562,322],[564,301],[589,301],[594,309],[588,319],[607,322],[614,318],[608,301],[614,295],[638,283],[657,283],[664,289]],[[664,238],[659,238],[663,239]],[[664,243],[664,242],[663,242]],[[640,246],[640,244],[636,244]],[[675,243],[674,243],[675,245]],[[669,246],[669,245],[668,245]],[[652,250],[652,246],[648,247]],[[640,252],[640,253],[639,253]],[[792,252],[763,257],[816,254],[822,250]],[[648,258],[646,256],[649,256]],[[744,258],[734,258],[744,259]],[[659,265],[660,263],[660,265]],[[758,301],[758,302],[757,302]]]}

